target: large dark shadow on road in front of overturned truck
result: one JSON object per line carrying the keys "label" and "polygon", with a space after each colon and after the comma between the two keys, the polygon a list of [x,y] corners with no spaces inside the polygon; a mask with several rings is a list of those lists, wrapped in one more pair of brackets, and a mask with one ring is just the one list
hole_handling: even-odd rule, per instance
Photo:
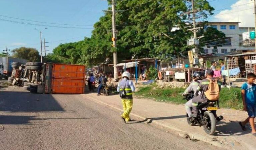
{"label": "large dark shadow on road in front of overturned truck", "polygon": [[32,94],[30,92],[0,92],[0,111],[2,112],[50,112],[64,111],[51,94]]}

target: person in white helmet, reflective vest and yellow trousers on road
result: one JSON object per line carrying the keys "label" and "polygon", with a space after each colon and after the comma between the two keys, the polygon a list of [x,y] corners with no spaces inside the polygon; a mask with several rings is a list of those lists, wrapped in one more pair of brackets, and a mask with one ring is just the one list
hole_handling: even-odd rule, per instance
{"label": "person in white helmet, reflective vest and yellow trousers on road", "polygon": [[117,92],[120,93],[119,95],[123,104],[124,113],[121,115],[121,118],[124,121],[124,123],[130,121],[130,113],[132,111],[133,105],[132,92],[135,91],[133,82],[129,80],[130,77],[131,74],[128,71],[125,71],[122,74],[123,79],[118,83],[117,86]]}

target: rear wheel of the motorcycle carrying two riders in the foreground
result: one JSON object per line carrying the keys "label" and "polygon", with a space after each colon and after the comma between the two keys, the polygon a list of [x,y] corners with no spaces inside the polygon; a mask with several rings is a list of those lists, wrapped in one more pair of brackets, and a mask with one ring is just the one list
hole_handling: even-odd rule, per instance
{"label": "rear wheel of the motorcycle carrying two riders in the foreground", "polygon": [[216,131],[216,120],[212,112],[206,111],[204,112],[204,131],[209,134],[213,135]]}

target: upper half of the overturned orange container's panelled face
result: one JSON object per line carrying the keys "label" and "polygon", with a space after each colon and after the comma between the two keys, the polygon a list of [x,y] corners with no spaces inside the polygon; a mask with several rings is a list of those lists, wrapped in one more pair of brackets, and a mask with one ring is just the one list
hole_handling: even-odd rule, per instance
{"label": "upper half of the overturned orange container's panelled face", "polygon": [[53,78],[58,79],[80,79],[85,78],[85,66],[53,64]]}

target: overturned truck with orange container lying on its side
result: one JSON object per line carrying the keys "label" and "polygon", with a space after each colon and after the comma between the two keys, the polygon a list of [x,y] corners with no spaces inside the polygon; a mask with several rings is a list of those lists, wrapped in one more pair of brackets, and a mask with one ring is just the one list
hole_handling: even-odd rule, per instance
{"label": "overturned truck with orange container lying on its side", "polygon": [[85,66],[28,62],[13,77],[13,84],[32,93],[82,94],[85,90]]}

